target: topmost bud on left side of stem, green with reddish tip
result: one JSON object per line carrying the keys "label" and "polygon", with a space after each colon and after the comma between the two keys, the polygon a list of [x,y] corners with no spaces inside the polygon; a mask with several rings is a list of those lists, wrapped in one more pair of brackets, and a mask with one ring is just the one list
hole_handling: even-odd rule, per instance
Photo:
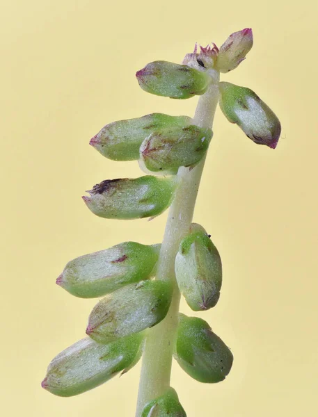
{"label": "topmost bud on left side of stem, green with reddish tip", "polygon": [[171,99],[189,99],[207,90],[210,77],[187,65],[154,61],[136,73],[141,88]]}

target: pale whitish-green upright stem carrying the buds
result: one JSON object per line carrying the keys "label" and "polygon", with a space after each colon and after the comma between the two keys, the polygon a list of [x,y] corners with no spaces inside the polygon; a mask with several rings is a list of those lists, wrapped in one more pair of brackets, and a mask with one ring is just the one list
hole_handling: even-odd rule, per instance
{"label": "pale whitish-green upright stem carrying the buds", "polygon": [[[193,124],[212,128],[218,103],[218,73],[213,74],[216,83],[198,101]],[[164,240],[157,267],[156,279],[169,280],[173,284],[173,298],[164,320],[149,330],[143,351],[143,364],[139,384],[136,417],[150,400],[163,395],[170,386],[170,374],[177,331],[180,291],[175,281],[175,256],[182,238],[189,233],[205,157],[192,170],[180,167],[177,173],[179,186],[170,206]]]}

